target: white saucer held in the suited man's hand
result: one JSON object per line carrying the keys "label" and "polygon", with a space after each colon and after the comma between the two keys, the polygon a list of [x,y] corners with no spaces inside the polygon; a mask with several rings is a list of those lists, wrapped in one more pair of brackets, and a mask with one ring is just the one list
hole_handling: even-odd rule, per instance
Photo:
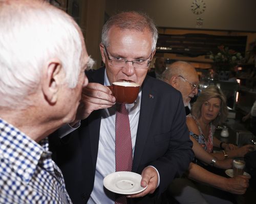
{"label": "white saucer held in the suited man's hand", "polygon": [[135,194],[144,191],[140,186],[141,175],[130,171],[118,171],[104,177],[103,185],[106,189],[119,194]]}

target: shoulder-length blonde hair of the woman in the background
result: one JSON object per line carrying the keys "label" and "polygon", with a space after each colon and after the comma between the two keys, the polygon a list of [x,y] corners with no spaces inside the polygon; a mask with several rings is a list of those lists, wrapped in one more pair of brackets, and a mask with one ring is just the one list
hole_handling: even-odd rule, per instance
{"label": "shoulder-length blonde hair of the woman in the background", "polygon": [[220,114],[212,121],[212,124],[218,125],[221,122],[225,122],[227,118],[227,105],[226,105],[226,97],[223,92],[217,86],[208,86],[205,88],[201,94],[198,96],[196,102],[191,108],[191,114],[194,115],[197,119],[201,117],[201,108],[205,101],[209,100],[210,98],[220,98],[221,100],[221,107],[220,107]]}

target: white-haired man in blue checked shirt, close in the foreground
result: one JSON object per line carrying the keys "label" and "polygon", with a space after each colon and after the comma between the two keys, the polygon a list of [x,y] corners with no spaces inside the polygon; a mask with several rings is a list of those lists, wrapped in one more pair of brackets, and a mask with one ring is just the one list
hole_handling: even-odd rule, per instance
{"label": "white-haired man in blue checked shirt, close in the foreground", "polygon": [[65,12],[0,1],[0,203],[71,203],[47,136],[75,119],[92,60]]}

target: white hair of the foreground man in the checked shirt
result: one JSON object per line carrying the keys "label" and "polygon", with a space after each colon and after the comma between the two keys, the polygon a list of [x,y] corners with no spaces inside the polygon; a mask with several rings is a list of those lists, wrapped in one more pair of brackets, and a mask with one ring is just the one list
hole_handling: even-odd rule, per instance
{"label": "white hair of the foreground man in the checked shirt", "polygon": [[0,1],[0,36],[0,107],[28,106],[53,58],[69,88],[77,85],[83,39],[65,12],[44,1]]}

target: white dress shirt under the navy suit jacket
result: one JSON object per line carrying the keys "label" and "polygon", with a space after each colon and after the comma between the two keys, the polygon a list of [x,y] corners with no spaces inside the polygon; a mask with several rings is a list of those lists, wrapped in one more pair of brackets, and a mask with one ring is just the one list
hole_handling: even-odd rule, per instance
{"label": "white dress shirt under the navy suit jacket", "polygon": [[[110,85],[108,77],[106,76],[106,72],[104,75],[104,85]],[[125,105],[127,111],[129,112],[133,154],[139,122],[140,98],[141,90],[135,103]],[[90,199],[88,200],[89,204],[115,203],[115,194],[104,189],[103,187],[104,177],[110,173],[115,172],[115,120],[116,106],[102,110],[95,181],[93,191],[91,193]]]}

